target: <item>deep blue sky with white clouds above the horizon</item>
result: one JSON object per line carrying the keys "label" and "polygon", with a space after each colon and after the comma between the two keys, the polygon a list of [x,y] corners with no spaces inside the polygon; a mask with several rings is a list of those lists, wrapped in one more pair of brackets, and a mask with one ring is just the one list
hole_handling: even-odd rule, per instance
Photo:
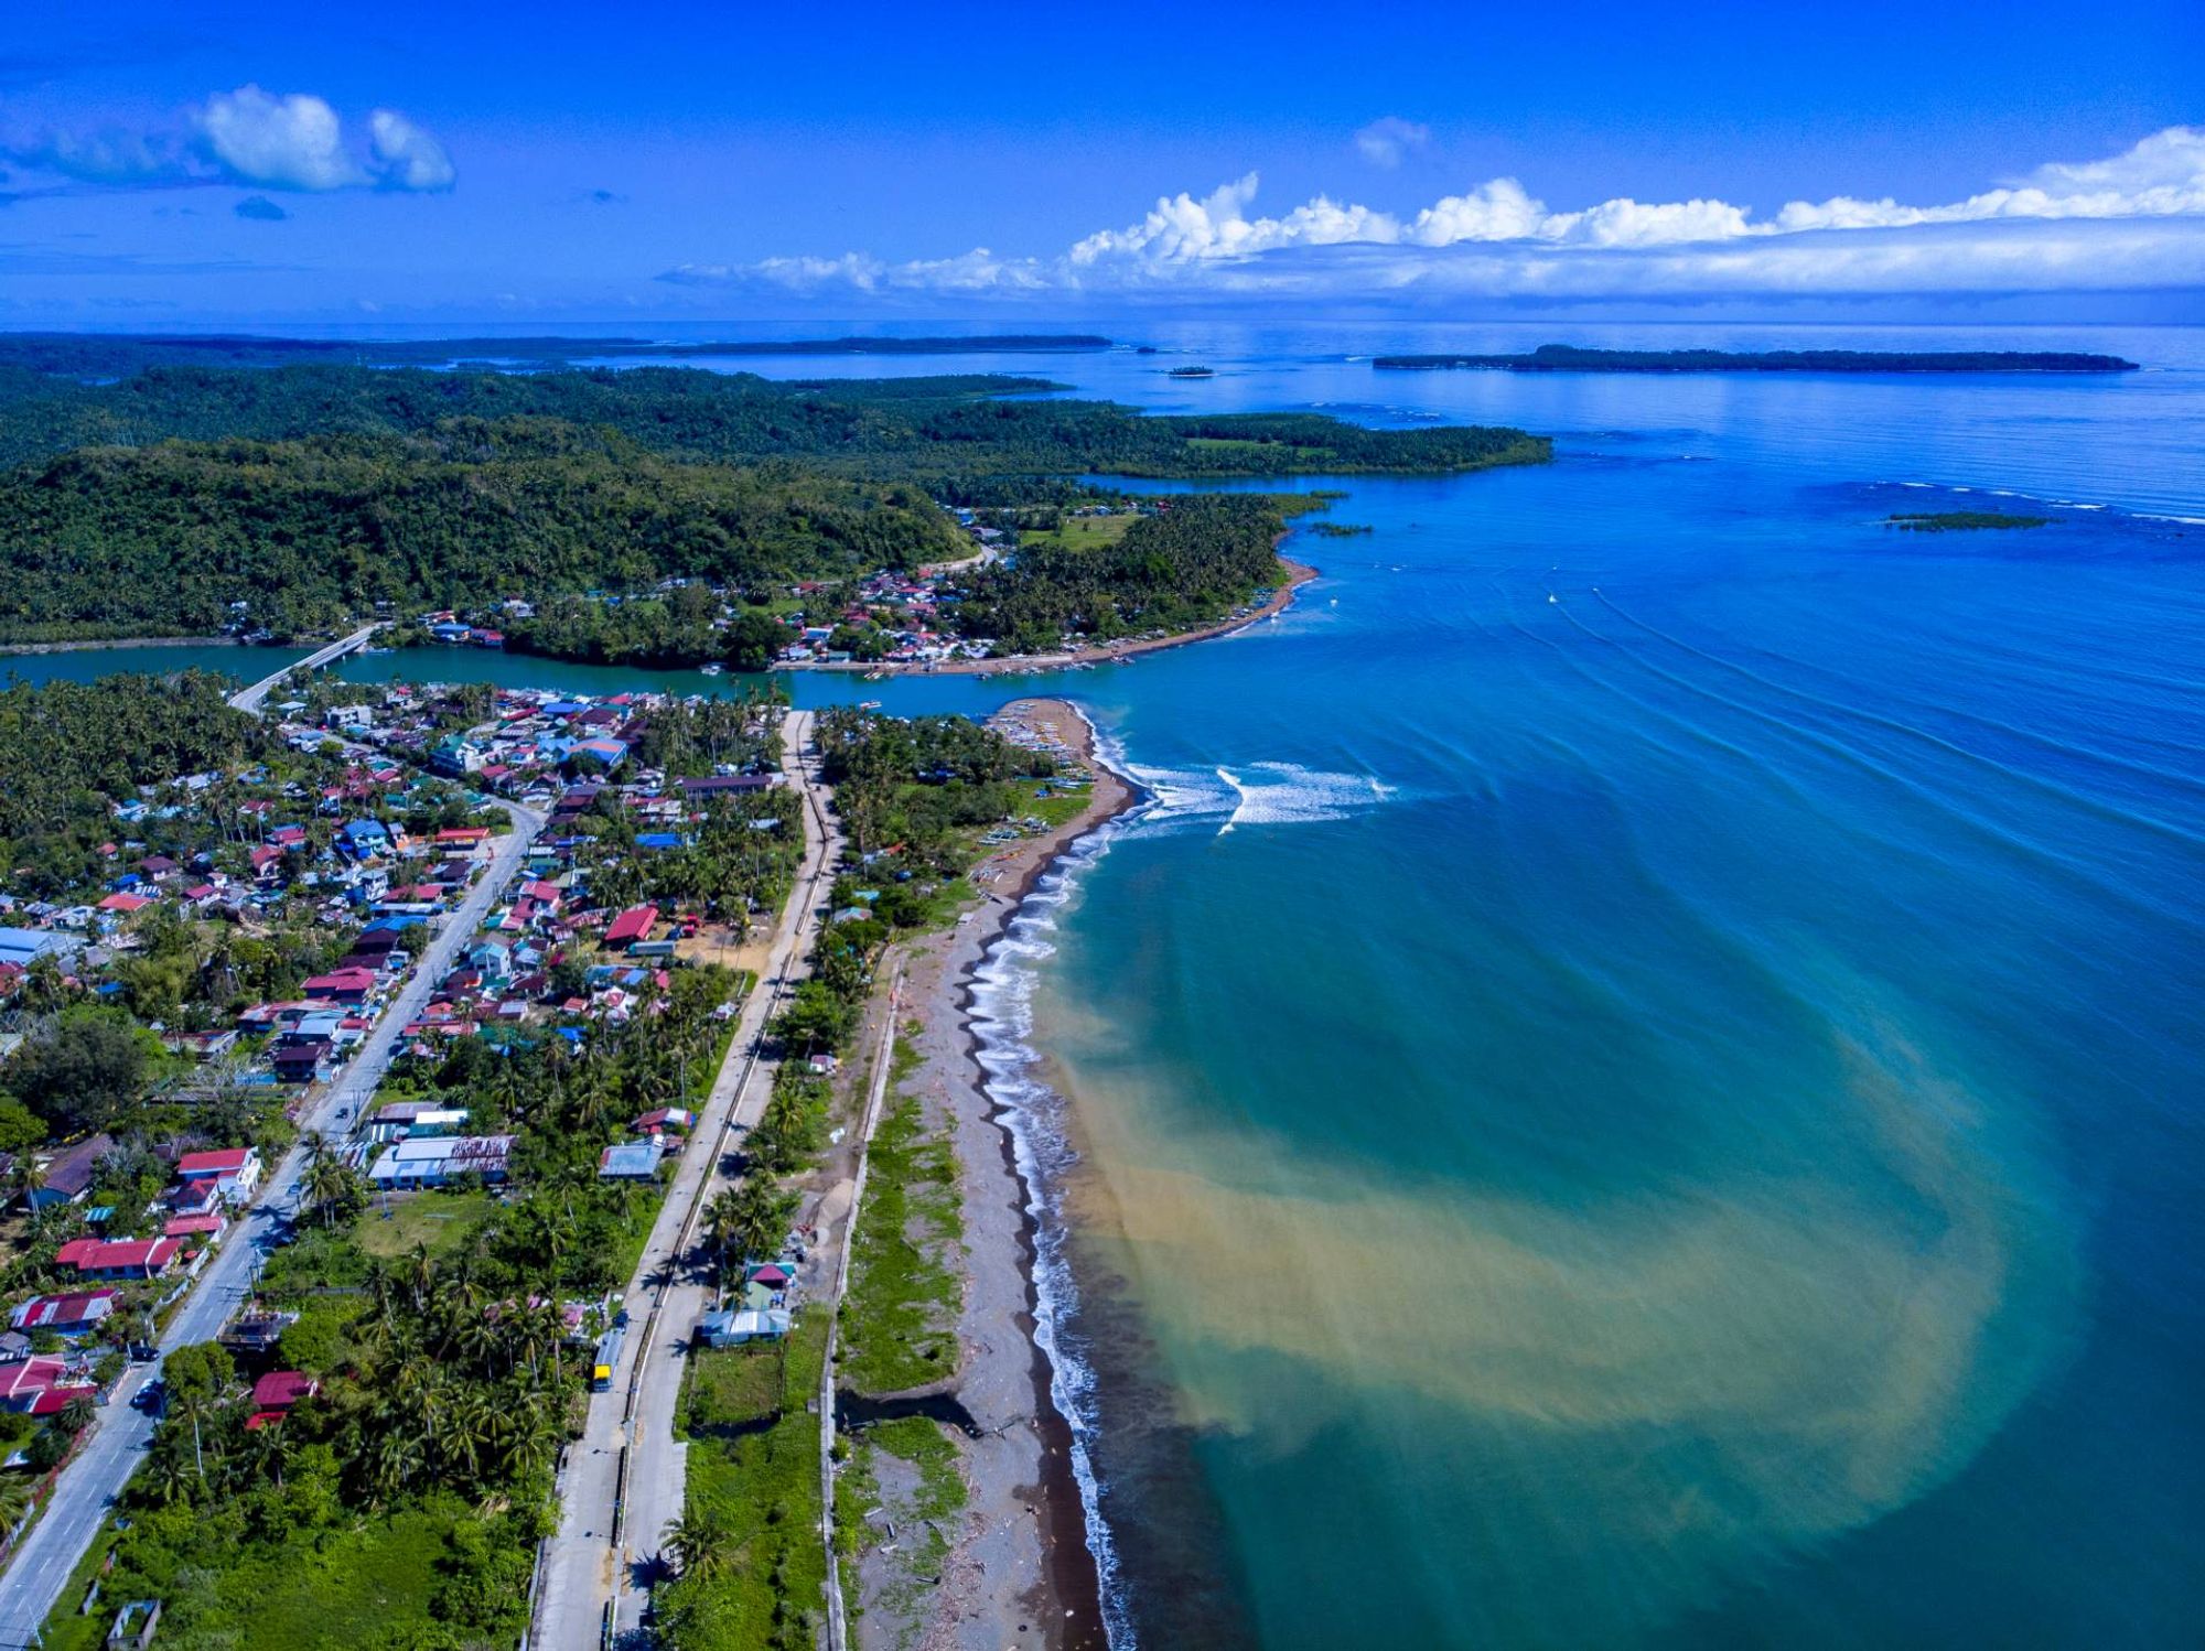
{"label": "deep blue sky with white clouds above the horizon", "polygon": [[84,11],[0,42],[0,326],[2205,289],[2194,0]]}

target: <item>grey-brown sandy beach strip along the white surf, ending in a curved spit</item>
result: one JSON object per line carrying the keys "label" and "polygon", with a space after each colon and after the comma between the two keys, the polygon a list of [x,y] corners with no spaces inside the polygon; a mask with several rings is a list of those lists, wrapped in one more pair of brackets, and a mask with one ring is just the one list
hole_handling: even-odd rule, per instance
{"label": "grey-brown sandy beach strip along the white surf, ending in a curved spit", "polygon": [[968,1506],[917,1644],[1087,1651],[1109,1638],[1072,1422],[1056,1398],[1063,1371],[1050,1356],[1045,1234],[1036,1219],[1043,1190],[1014,1111],[988,1093],[979,994],[981,970],[1014,939],[1010,926],[1043,880],[1142,794],[1100,760],[1094,727],[1065,701],[1012,701],[992,721],[1061,738],[1094,776],[1094,789],[1063,827],[977,866],[975,882],[988,893],[948,935],[913,948],[906,968],[922,1023],[915,1085],[946,1113],[957,1142],[966,1221],[957,1398],[979,1431],[961,1444]]}

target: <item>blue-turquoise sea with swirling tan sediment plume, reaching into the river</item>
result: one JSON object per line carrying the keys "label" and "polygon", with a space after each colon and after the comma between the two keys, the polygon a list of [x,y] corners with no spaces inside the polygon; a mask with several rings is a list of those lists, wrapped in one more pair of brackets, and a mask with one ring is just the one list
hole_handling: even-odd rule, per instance
{"label": "blue-turquoise sea with swirling tan sediment plume, reaching into the river", "polygon": [[[2205,1640],[2205,335],[1144,337],[1043,370],[1559,461],[1341,481],[1376,531],[1299,536],[1323,578],[1279,622],[1017,683],[1153,798],[983,990],[1114,1638]],[[1548,337],[2148,370],[1347,359]],[[1881,525],[1962,507],[2055,520]]]}

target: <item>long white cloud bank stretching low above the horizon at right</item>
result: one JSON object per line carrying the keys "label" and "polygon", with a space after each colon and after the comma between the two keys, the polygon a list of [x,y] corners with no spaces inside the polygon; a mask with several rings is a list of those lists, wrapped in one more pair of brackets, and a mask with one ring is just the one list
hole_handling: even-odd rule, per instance
{"label": "long white cloud bank stretching low above the horizon at right", "polygon": [[1319,194],[1266,216],[1255,212],[1257,183],[1248,172],[1204,196],[1162,196],[1136,223],[1098,229],[1054,258],[842,253],[684,265],[664,280],[794,293],[1323,298],[2205,284],[2205,130],[2187,126],[2101,161],[2040,165],[1965,201],[1835,196],[1790,201],[1771,216],[1713,198],[1618,196],[1555,209],[1517,179],[1491,179],[1409,214]]}

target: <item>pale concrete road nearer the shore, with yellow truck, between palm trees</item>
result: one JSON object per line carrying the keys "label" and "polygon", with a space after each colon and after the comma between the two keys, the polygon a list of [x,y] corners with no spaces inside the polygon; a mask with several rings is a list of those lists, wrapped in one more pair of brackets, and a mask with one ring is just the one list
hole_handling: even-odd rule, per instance
{"label": "pale concrete road nearer the shore, with yellow truck, between palm trees", "polygon": [[668,1521],[681,1512],[688,1446],[675,1439],[675,1411],[690,1331],[714,1301],[710,1267],[692,1265],[699,1212],[730,1186],[721,1175],[728,1153],[765,1111],[772,1089],[772,1065],[761,1058],[765,1021],[809,968],[820,906],[842,853],[816,758],[807,756],[809,741],[811,712],[789,712],[781,767],[805,798],[796,888],[767,948],[765,979],[743,1003],[728,1058],[628,1281],[631,1327],[613,1384],[591,1395],[582,1437],[560,1472],[560,1528],[545,1550],[531,1636],[545,1651],[595,1651],[609,1609],[617,1631],[642,1627],[648,1594],[637,1583],[653,1567]]}

